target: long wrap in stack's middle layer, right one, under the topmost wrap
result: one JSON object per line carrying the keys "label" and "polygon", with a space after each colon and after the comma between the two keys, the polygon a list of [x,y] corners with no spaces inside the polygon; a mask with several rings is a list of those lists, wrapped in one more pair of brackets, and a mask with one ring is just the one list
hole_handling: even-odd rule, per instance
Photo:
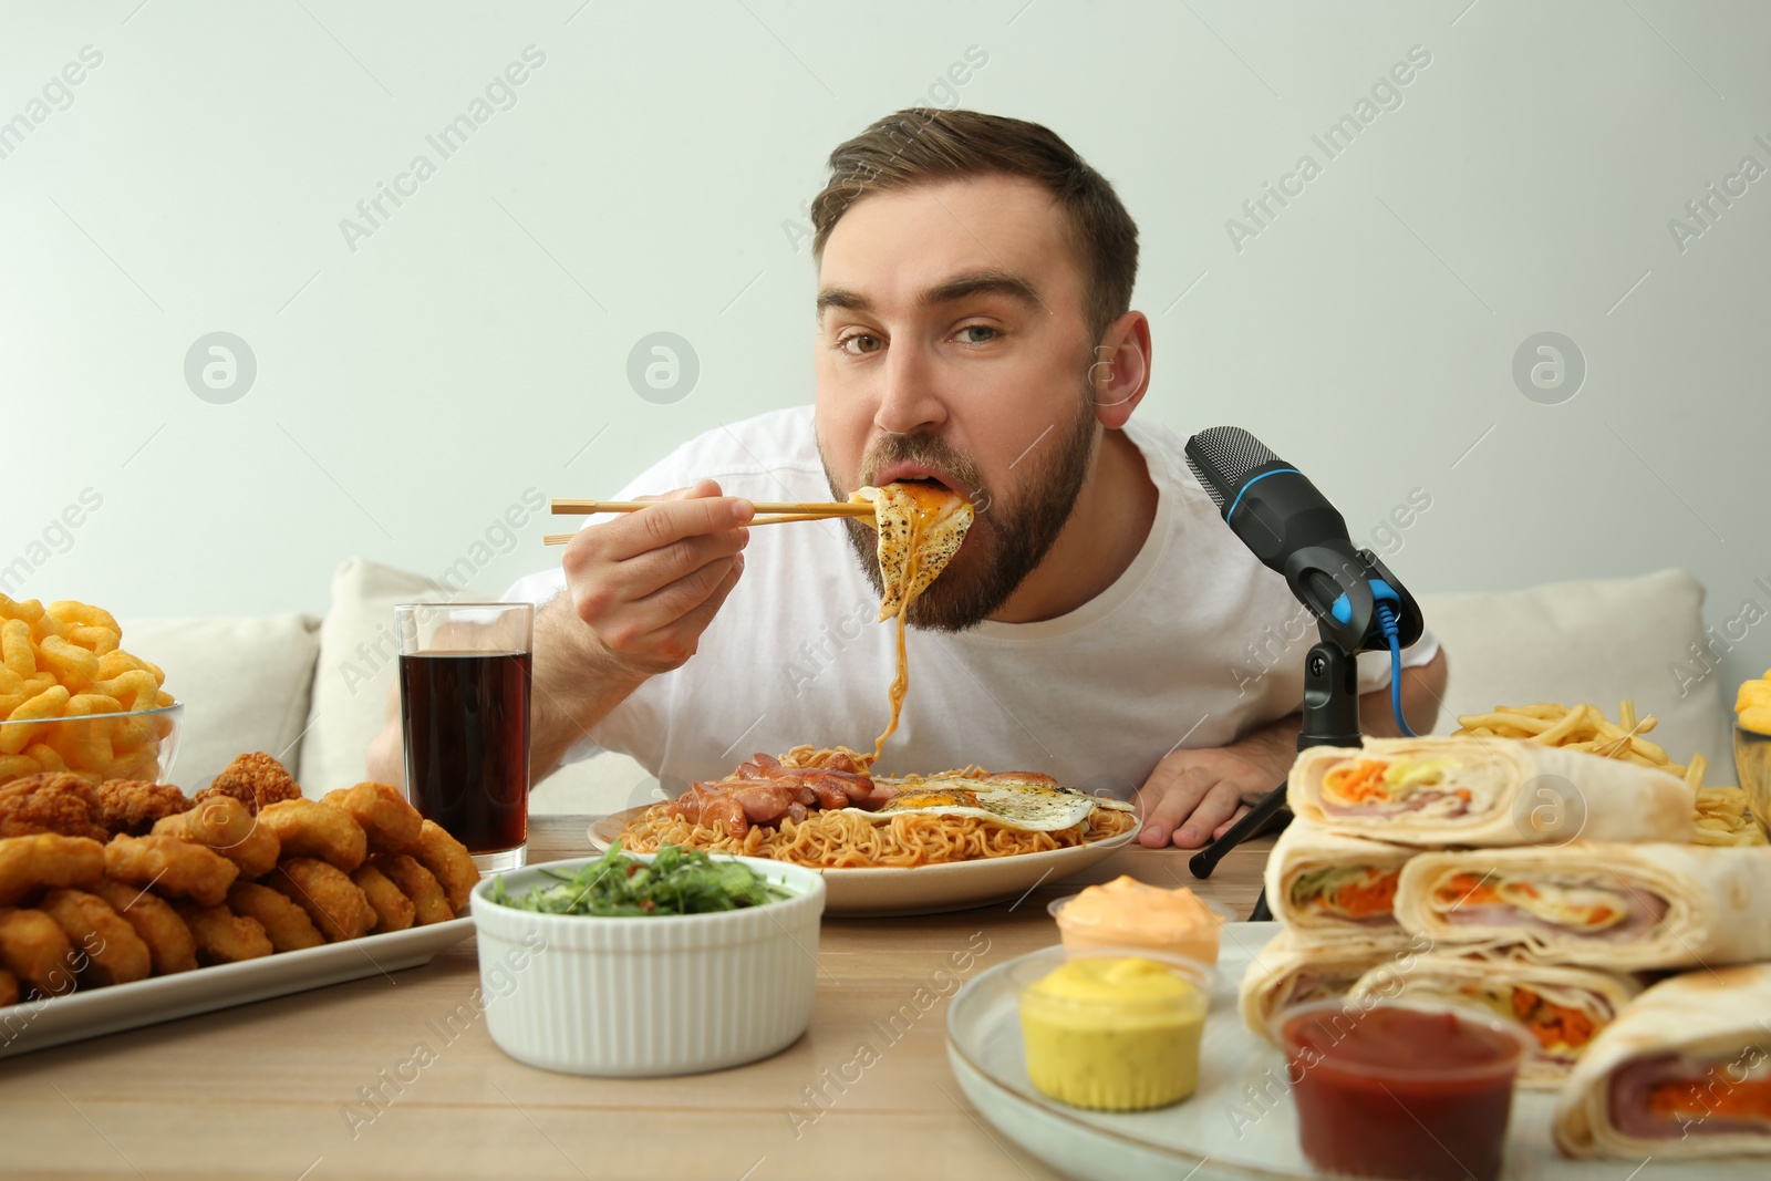
{"label": "long wrap in stack's middle layer, right one, under the topmost wrap", "polygon": [[1518,944],[1619,972],[1771,958],[1771,848],[1613,845],[1420,853],[1396,919],[1435,944]]}

